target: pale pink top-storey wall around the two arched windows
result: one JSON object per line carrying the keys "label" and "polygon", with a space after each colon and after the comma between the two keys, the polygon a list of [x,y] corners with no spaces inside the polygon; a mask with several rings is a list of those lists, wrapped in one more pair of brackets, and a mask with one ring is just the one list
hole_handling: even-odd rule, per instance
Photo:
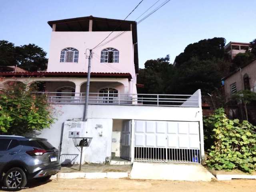
{"label": "pale pink top-storey wall around the two arched windows", "polygon": [[[87,72],[88,59],[86,49],[96,46],[110,32],[52,32],[48,72]],[[112,39],[120,32],[113,32],[105,41]],[[79,51],[78,63],[60,62],[60,51],[72,47]],[[119,51],[119,63],[100,63],[100,51],[104,48],[116,48]],[[134,77],[132,32],[127,31],[122,36],[93,50],[92,72],[124,72]],[[88,55],[88,50],[87,50]]]}

